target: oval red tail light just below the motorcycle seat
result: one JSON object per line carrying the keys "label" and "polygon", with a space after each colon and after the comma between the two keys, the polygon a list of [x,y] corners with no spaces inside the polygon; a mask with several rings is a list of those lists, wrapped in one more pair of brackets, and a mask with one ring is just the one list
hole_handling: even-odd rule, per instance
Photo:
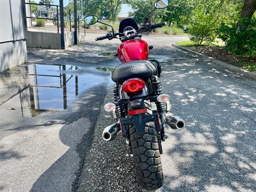
{"label": "oval red tail light just below the motorcycle seat", "polygon": [[122,90],[126,93],[135,93],[145,87],[145,82],[140,78],[131,78],[126,80],[122,85]]}

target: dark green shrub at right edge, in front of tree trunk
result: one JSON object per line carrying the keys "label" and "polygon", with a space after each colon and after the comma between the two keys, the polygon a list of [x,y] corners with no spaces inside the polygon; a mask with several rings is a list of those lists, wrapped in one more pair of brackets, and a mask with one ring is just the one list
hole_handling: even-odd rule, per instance
{"label": "dark green shrub at right edge, in front of tree trunk", "polygon": [[235,54],[256,56],[256,18],[244,18],[239,23],[241,27],[220,27],[219,37],[226,42],[225,49]]}

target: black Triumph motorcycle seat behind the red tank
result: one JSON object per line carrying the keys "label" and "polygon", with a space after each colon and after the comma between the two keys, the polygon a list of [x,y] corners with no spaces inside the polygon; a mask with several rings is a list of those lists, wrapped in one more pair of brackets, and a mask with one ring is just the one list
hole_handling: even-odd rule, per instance
{"label": "black Triumph motorcycle seat behind the red tank", "polygon": [[157,75],[156,66],[148,60],[136,60],[116,66],[112,80],[123,83],[130,78],[145,78],[151,75]]}

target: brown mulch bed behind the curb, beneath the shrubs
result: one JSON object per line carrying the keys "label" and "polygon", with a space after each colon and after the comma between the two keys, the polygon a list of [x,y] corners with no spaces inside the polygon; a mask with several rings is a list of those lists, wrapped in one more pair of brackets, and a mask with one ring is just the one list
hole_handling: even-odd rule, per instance
{"label": "brown mulch bed behind the curb, beneath the shrubs", "polygon": [[[223,47],[220,46],[184,46],[189,50],[196,51],[198,53],[202,53],[214,59],[218,59],[231,65],[244,68],[246,66],[256,65],[256,57],[249,57],[247,55],[235,55],[228,51],[225,51]],[[247,69],[252,72],[256,72],[256,69]]]}

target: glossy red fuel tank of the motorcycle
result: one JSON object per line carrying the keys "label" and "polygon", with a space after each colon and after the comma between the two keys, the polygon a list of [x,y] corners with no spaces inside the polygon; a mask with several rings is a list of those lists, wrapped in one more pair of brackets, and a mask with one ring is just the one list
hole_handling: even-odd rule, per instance
{"label": "glossy red fuel tank of the motorcycle", "polygon": [[142,39],[130,39],[123,42],[117,49],[119,60],[129,62],[148,59],[148,44]]}

